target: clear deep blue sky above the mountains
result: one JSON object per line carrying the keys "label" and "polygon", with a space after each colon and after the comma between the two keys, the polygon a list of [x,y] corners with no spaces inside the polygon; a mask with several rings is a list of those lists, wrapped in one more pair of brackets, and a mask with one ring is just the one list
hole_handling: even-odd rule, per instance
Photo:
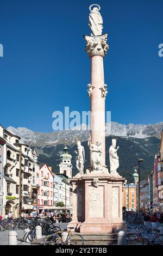
{"label": "clear deep blue sky above the mountains", "polygon": [[[87,111],[89,5],[95,1],[1,2],[0,123],[52,131],[52,113]],[[99,0],[110,49],[104,58],[106,110],[118,123],[162,120],[162,0]]]}

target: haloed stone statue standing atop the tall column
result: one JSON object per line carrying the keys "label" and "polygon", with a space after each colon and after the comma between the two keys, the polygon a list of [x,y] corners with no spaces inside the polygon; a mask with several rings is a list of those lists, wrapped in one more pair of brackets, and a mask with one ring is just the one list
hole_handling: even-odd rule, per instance
{"label": "haloed stone statue standing atop the tall column", "polygon": [[[94,7],[93,10],[91,7],[93,5],[96,5],[97,7]],[[101,14],[99,13],[100,7],[98,4],[92,4],[90,6],[90,14],[89,14],[89,26],[91,28],[91,35],[102,35],[102,29],[103,29],[103,18]]]}

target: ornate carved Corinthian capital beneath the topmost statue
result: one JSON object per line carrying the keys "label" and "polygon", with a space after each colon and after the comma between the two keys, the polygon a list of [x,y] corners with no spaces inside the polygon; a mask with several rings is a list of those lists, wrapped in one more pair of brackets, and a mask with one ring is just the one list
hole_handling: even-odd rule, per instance
{"label": "ornate carved Corinthian capital beneath the topmost statue", "polygon": [[89,57],[92,55],[105,56],[107,50],[109,49],[109,45],[107,44],[107,36],[108,34],[96,36],[84,35],[84,39],[86,41],[85,51],[88,53]]}

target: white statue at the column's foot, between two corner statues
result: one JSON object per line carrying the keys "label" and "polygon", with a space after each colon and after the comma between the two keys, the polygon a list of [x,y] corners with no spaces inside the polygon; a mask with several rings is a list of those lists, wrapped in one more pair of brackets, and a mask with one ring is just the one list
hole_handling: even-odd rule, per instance
{"label": "white statue at the column's foot, between two corner statues", "polygon": [[91,138],[88,141],[88,145],[90,148],[90,155],[91,155],[91,162],[93,167],[93,172],[97,172],[98,170],[102,170],[101,165],[101,155],[102,155],[102,148],[101,142],[97,141],[95,144],[91,144]]}

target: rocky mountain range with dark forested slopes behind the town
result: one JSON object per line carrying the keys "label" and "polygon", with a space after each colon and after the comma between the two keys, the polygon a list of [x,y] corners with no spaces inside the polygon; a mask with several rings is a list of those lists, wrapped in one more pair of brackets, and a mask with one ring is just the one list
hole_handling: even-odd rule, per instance
{"label": "rocky mountain range with dark forested slopes behind the town", "polygon": [[[118,156],[120,158],[118,172],[131,182],[131,174],[134,172],[138,159],[141,157],[144,160],[141,163],[141,179],[146,178],[153,170],[154,154],[158,152],[160,146],[162,129],[163,122],[152,125],[125,125],[112,122],[106,125],[106,165],[108,168],[109,147],[111,139],[116,136],[117,145],[120,146],[120,149],[118,149]],[[52,167],[54,173],[59,172],[59,156],[66,144],[72,155],[72,171],[73,174],[76,174],[76,154],[74,150],[77,150],[75,139],[78,137],[85,148],[85,169],[89,166],[87,139],[89,139],[90,132],[84,124],[75,127],[73,130],[50,133],[35,132],[26,127],[18,127],[16,129],[10,126],[7,130],[20,136],[22,143],[26,143],[32,148],[37,147],[41,165],[47,163],[48,166]]]}

